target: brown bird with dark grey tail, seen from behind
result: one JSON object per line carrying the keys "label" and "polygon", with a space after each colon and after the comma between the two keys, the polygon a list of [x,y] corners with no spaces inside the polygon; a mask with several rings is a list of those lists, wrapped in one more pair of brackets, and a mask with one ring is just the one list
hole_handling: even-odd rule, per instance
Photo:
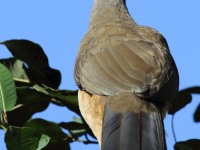
{"label": "brown bird with dark grey tail, seen from behind", "polygon": [[126,0],[94,0],[74,66],[80,112],[101,150],[166,150],[163,119],[179,74],[165,37]]}

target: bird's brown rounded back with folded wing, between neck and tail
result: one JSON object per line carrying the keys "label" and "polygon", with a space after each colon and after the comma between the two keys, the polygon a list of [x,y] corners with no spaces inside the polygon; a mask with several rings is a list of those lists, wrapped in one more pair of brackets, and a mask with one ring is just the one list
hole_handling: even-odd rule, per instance
{"label": "bird's brown rounded back with folded wing, between neck and tail", "polygon": [[148,98],[176,74],[164,37],[141,26],[94,28],[83,39],[76,62],[76,83],[100,95],[130,92]]}

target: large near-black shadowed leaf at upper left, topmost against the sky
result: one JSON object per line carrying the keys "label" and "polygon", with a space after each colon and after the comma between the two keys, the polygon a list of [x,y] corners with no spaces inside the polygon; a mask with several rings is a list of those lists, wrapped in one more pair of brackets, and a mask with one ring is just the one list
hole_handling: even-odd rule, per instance
{"label": "large near-black shadowed leaf at upper left, topmost against the sky", "polygon": [[15,58],[26,63],[26,73],[31,82],[58,88],[61,74],[50,68],[48,58],[38,44],[28,40],[9,40],[0,44],[4,44]]}

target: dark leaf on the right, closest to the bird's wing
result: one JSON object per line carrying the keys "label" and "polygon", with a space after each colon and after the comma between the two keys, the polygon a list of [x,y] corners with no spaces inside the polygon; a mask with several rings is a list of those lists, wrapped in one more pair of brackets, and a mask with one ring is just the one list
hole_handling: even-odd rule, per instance
{"label": "dark leaf on the right, closest to the bird's wing", "polygon": [[200,87],[191,87],[181,90],[178,97],[171,101],[168,113],[173,115],[192,101],[192,94],[200,94]]}

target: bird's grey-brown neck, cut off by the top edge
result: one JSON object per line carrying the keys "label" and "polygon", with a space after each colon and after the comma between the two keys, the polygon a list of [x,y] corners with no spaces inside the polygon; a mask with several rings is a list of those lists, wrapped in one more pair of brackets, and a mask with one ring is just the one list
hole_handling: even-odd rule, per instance
{"label": "bird's grey-brown neck, cut off by the top edge", "polygon": [[135,23],[126,7],[126,0],[94,0],[89,29],[108,22]]}

